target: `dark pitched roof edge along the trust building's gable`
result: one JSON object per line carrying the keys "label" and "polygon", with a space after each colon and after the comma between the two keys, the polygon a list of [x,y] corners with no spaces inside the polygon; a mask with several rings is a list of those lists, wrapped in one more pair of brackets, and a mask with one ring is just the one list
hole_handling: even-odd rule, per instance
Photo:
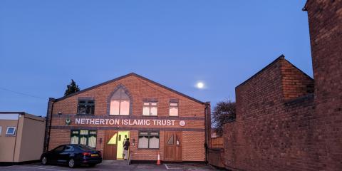
{"label": "dark pitched roof edge along the trust building's gable", "polygon": [[157,83],[157,82],[155,82],[155,81],[152,81],[152,80],[150,80],[150,79],[148,79],[148,78],[145,78],[145,77],[143,77],[143,76],[140,76],[140,75],[138,75],[138,74],[136,74],[136,73],[128,73],[128,74],[126,74],[125,76],[120,76],[120,77],[118,77],[118,78],[114,78],[113,80],[105,81],[105,82],[103,82],[103,83],[100,83],[100,84],[98,84],[98,85],[92,86],[92,87],[90,87],[90,88],[86,88],[86,89],[80,90],[80,91],[78,91],[78,92],[76,92],[76,93],[72,93],[72,94],[70,94],[70,95],[66,95],[66,96],[63,96],[63,97],[61,97],[61,98],[51,99],[51,100],[53,100],[54,102],[56,102],[56,101],[59,101],[59,100],[63,100],[63,99],[66,99],[66,98],[70,98],[70,97],[73,96],[73,95],[78,95],[78,94],[83,93],[83,92],[86,92],[86,91],[88,91],[88,90],[92,90],[92,89],[94,89],[94,88],[98,88],[98,87],[100,87],[100,86],[104,86],[104,85],[106,85],[106,84],[108,84],[108,83],[113,83],[114,81],[118,81],[118,80],[121,80],[121,79],[126,78],[126,77],[129,77],[129,76],[136,76],[136,77],[141,78],[141,79],[143,79],[143,80],[145,80],[145,81],[148,81],[148,82],[150,82],[150,83],[152,83],[152,84],[155,84],[155,85],[157,85],[157,86],[160,86],[160,87],[162,87],[162,88],[165,88],[165,89],[167,89],[167,90],[170,90],[170,91],[172,91],[173,93],[177,93],[178,95],[182,95],[182,96],[185,97],[185,98],[189,98],[190,100],[194,100],[194,101],[197,102],[197,103],[204,104],[204,102],[202,102],[202,101],[200,101],[200,100],[197,100],[197,99],[195,99],[195,98],[192,98],[192,97],[190,97],[189,95],[185,95],[185,94],[183,94],[183,93],[180,93],[179,91],[173,90],[172,88],[168,88],[167,86],[163,86],[163,85],[160,84],[160,83]]}

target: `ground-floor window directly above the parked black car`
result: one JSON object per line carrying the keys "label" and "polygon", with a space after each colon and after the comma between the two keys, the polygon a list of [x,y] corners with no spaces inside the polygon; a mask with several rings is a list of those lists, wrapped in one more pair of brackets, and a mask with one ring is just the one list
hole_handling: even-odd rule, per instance
{"label": "ground-floor window directly above the parked black car", "polygon": [[89,145],[96,147],[96,130],[71,130],[71,144]]}

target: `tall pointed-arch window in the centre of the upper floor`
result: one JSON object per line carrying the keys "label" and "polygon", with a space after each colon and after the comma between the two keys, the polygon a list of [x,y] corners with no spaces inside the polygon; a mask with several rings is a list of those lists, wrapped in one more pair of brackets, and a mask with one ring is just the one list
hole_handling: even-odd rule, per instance
{"label": "tall pointed-arch window in the centre of the upper floor", "polygon": [[130,115],[130,97],[119,88],[110,98],[109,115]]}

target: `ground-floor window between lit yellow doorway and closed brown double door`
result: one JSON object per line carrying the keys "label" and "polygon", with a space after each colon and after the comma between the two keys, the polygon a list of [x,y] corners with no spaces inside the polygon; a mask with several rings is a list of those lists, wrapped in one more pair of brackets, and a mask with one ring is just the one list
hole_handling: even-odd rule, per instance
{"label": "ground-floor window between lit yellow doorway and closed brown double door", "polygon": [[138,148],[159,148],[159,132],[139,132]]}

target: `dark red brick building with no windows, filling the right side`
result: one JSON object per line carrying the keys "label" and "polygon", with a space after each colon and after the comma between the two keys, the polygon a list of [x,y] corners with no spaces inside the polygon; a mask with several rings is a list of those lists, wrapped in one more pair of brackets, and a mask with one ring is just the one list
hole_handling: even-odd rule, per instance
{"label": "dark red brick building with no windows, filling the right side", "polygon": [[237,86],[237,118],[224,125],[224,150],[209,153],[212,165],[342,170],[342,1],[308,0],[304,11],[314,79],[280,56]]}

